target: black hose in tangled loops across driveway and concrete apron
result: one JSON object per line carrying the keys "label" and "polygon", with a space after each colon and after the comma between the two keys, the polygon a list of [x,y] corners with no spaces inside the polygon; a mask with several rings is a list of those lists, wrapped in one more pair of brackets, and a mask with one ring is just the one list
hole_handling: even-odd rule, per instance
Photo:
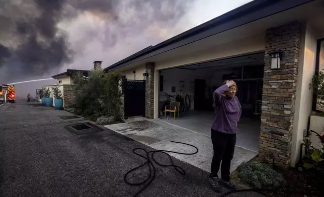
{"label": "black hose in tangled loops across driveway and concrete apron", "polygon": [[[179,143],[179,144],[185,144],[185,145],[188,145],[188,146],[194,147],[194,148],[196,149],[196,151],[193,152],[193,153],[182,153],[182,152],[169,151],[169,150],[153,150],[153,151],[146,151],[146,150],[143,149],[143,148],[134,148],[134,149],[133,149],[133,153],[134,153],[134,154],[136,154],[136,155],[138,155],[138,156],[143,157],[144,159],[146,159],[146,162],[145,162],[145,163],[143,163],[143,164],[141,164],[141,165],[139,165],[139,166],[137,166],[137,167],[135,167],[135,168],[129,170],[129,171],[124,175],[124,181],[125,181],[127,184],[129,184],[129,185],[143,185],[143,184],[146,183],[146,184],[145,184],[145,185],[144,185],[140,190],[137,191],[137,193],[136,193],[135,195],[133,195],[134,197],[137,196],[139,193],[141,193],[141,192],[142,192],[146,187],[148,187],[148,185],[149,185],[149,184],[154,180],[154,178],[155,178],[155,171],[156,171],[156,169],[155,169],[155,166],[154,166],[154,164],[153,164],[153,162],[152,162],[151,160],[153,160],[157,165],[162,166],[162,167],[174,167],[175,170],[177,170],[181,175],[185,175],[185,174],[186,174],[186,171],[185,171],[182,167],[180,167],[180,166],[178,166],[178,165],[175,165],[175,164],[173,163],[172,157],[171,157],[171,155],[168,154],[168,153],[177,153],[177,154],[182,154],[182,155],[194,155],[194,154],[196,154],[196,153],[198,152],[198,148],[197,148],[196,146],[194,146],[194,145],[187,144],[187,143],[183,143],[183,142],[175,142],[175,141],[171,141],[171,142]],[[141,151],[145,152],[145,156],[143,156],[143,155],[137,153],[136,150],[141,150]],[[151,153],[151,155],[150,155],[150,153]],[[164,153],[164,154],[168,155],[169,158],[170,158],[170,161],[171,161],[171,165],[164,165],[164,164],[158,163],[158,162],[155,160],[155,158],[154,158],[154,154],[155,154],[155,153]],[[150,157],[151,157],[151,158],[150,158]],[[148,171],[149,171],[149,172],[148,172],[147,178],[144,179],[144,180],[141,181],[141,182],[129,182],[129,181],[127,180],[127,175],[128,175],[129,173],[135,171],[136,169],[138,169],[138,168],[144,166],[144,165],[147,165],[147,166],[148,166]]]}

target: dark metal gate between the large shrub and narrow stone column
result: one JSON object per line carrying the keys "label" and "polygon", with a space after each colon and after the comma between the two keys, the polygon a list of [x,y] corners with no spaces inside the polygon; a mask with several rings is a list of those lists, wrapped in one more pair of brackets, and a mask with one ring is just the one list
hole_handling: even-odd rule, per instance
{"label": "dark metal gate between the large shrub and narrow stone column", "polygon": [[125,118],[145,116],[145,81],[124,81],[124,113]]}

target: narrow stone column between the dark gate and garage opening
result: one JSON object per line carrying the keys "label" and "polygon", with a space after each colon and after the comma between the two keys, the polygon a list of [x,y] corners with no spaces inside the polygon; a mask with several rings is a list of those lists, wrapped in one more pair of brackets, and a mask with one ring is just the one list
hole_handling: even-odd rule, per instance
{"label": "narrow stone column between the dark gate and garage opening", "polygon": [[154,62],[145,63],[145,72],[148,73],[145,81],[145,117],[154,118]]}

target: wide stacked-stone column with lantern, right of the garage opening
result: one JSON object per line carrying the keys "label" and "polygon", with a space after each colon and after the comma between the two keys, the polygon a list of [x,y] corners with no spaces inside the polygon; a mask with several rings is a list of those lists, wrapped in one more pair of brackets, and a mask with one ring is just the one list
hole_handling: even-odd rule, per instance
{"label": "wide stacked-stone column with lantern, right of the garage opening", "polygon": [[[290,163],[291,135],[301,25],[293,22],[267,30],[259,156],[276,165]],[[273,51],[282,51],[280,69],[271,69]]]}

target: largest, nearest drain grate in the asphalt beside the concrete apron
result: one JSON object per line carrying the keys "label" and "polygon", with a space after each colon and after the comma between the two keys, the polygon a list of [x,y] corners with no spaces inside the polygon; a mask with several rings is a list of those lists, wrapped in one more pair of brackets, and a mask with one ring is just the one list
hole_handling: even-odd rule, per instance
{"label": "largest, nearest drain grate in the asphalt beside the concrete apron", "polygon": [[78,123],[74,125],[67,125],[64,126],[67,130],[69,130],[71,133],[80,135],[80,134],[91,134],[103,131],[104,129],[101,127],[98,127],[97,125],[91,124],[89,122],[86,123]]}

